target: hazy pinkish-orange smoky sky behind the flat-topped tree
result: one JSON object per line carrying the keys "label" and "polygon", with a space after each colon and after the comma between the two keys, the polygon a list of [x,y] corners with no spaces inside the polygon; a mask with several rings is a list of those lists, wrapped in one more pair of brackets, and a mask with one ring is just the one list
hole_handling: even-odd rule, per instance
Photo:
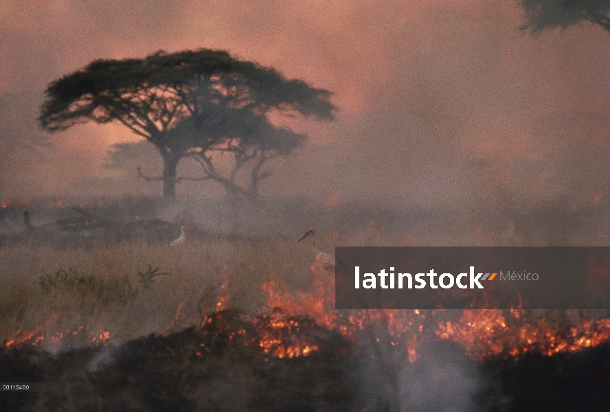
{"label": "hazy pinkish-orange smoky sky behind the flat-topped tree", "polygon": [[[269,164],[265,196],[603,203],[610,34],[581,23],[532,36],[522,23],[514,1],[2,1],[0,196],[160,194],[135,165],[109,167],[112,144],[138,141],[124,128],[76,126],[33,157],[19,148],[44,133],[27,119],[49,82],[91,60],[207,47],[334,93],[337,121],[287,120],[308,143]],[[159,172],[154,150],[134,160]]]}

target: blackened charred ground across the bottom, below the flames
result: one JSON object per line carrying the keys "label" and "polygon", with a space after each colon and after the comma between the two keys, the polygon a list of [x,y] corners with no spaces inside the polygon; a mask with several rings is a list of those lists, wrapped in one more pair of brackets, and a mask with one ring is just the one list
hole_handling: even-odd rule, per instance
{"label": "blackened charred ground across the bottom, below the flames", "polygon": [[[281,315],[280,315],[281,316]],[[120,346],[89,347],[51,356],[32,346],[0,349],[0,379],[60,382],[60,392],[1,393],[3,407],[15,411],[402,411],[446,410],[430,374],[453,374],[453,343],[432,345],[436,361],[398,367],[403,389],[428,388],[425,408],[403,396],[402,407],[389,396],[378,374],[362,374],[376,363],[306,317],[282,317],[300,325],[293,339],[315,344],[308,356],[278,358],[261,349],[271,316],[236,309],[208,314],[200,328],[161,336],[151,334]],[[281,339],[282,336],[276,336]],[[461,367],[484,376],[470,395],[481,411],[606,411],[610,401],[610,345],[574,354],[522,358],[498,356],[483,363],[462,359]],[[433,367],[447,368],[440,371]],[[431,371],[432,368],[432,371]],[[405,371],[406,369],[406,371]],[[371,369],[372,371],[374,369]],[[377,371],[379,372],[379,371]],[[383,375],[382,375],[383,376]],[[399,377],[394,377],[394,385]],[[455,382],[456,385],[460,382]],[[464,388],[468,390],[468,388]],[[457,391],[457,388],[456,388]],[[431,398],[430,398],[431,397]],[[457,404],[459,404],[459,401]]]}

